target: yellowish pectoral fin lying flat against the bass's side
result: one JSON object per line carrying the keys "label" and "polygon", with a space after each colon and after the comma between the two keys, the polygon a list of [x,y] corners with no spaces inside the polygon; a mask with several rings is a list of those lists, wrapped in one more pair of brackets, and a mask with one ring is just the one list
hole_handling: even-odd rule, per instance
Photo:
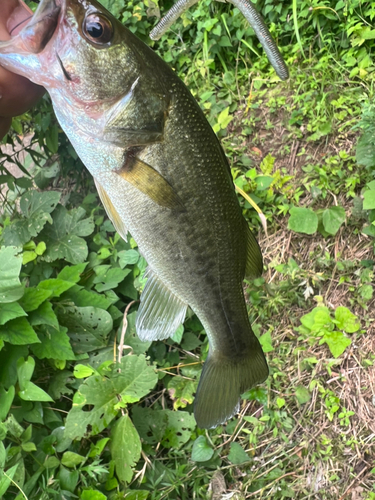
{"label": "yellowish pectoral fin lying flat against the bass's side", "polygon": [[171,210],[184,209],[182,201],[168,181],[142,160],[128,158],[124,167],[117,173],[161,207]]}

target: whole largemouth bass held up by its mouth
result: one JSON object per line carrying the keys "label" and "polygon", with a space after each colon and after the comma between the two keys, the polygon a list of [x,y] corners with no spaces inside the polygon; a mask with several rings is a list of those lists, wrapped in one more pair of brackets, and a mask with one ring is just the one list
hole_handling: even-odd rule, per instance
{"label": "whole largemouth bass held up by its mouth", "polygon": [[148,263],[136,329],[163,340],[189,306],[209,341],[194,402],[226,422],[268,376],[243,291],[262,254],[223,148],[176,73],[95,0],[42,0],[0,64],[47,89],[117,232]]}

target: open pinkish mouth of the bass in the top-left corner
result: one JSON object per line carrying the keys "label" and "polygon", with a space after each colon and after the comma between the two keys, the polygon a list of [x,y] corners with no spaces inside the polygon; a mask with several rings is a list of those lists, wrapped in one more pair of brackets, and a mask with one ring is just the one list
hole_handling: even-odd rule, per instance
{"label": "open pinkish mouth of the bass in the top-left corner", "polygon": [[[57,0],[59,1],[59,0]],[[56,0],[42,0],[35,11],[21,23],[8,26],[11,38],[0,41],[0,53],[39,54],[53,37],[62,5]],[[62,3],[64,0],[60,0]],[[23,27],[19,30],[19,28]],[[14,34],[17,32],[17,34]]]}

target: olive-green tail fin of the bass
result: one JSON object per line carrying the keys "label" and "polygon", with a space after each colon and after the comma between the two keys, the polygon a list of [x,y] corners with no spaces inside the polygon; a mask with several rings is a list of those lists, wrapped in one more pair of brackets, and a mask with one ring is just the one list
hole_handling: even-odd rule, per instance
{"label": "olive-green tail fin of the bass", "polygon": [[268,366],[258,340],[243,356],[209,354],[195,396],[198,427],[211,429],[239,410],[240,395],[268,377]]}

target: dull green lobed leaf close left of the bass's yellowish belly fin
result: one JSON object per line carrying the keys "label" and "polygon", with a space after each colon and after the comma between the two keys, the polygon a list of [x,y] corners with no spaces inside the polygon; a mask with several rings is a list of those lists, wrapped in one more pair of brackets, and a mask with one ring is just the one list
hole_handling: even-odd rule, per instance
{"label": "dull green lobed leaf close left of the bass's yellowish belly fin", "polygon": [[70,213],[62,205],[53,212],[53,224],[46,226],[40,238],[47,244],[43,258],[47,262],[65,259],[72,264],[84,262],[88,255],[87,244],[81,236],[90,235],[95,226],[92,218],[83,219],[83,208]]}

